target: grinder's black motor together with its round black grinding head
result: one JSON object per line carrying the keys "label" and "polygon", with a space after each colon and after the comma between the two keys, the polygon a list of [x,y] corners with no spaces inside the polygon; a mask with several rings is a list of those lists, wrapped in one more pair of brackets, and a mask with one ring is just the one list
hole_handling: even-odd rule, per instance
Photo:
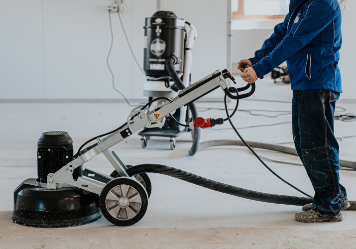
{"label": "grinder's black motor together with its round black grinding head", "polygon": [[[47,190],[47,175],[72,160],[73,140],[67,132],[42,133],[37,143],[38,178],[24,180],[13,193],[15,223],[60,228],[84,225],[101,217],[97,194],[64,183],[56,190]],[[81,167],[73,171],[74,179],[79,176]]]}

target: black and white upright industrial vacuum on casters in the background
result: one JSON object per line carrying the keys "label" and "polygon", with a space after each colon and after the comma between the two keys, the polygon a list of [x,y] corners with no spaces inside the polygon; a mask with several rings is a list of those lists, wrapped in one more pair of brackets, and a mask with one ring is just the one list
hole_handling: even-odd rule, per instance
{"label": "black and white upright industrial vacuum on casters in the background", "polygon": [[[143,83],[143,96],[152,100],[157,97],[174,98],[178,91],[189,86],[193,62],[192,48],[198,36],[194,25],[182,18],[178,18],[172,11],[157,11],[145,19],[143,44],[143,70],[147,81]],[[182,84],[177,84],[166,67],[166,60],[174,55],[179,63],[173,65]],[[152,103],[153,109],[166,100]],[[172,114],[178,122],[188,124],[192,119],[198,118],[198,111],[194,103],[175,110]],[[194,155],[198,149],[200,131],[193,132],[189,126],[181,126],[173,118],[165,117],[162,126],[145,127],[138,134],[141,146],[147,146],[148,138],[152,136],[169,137],[170,148],[176,146],[176,137],[183,132],[191,131],[193,145],[189,150]]]}

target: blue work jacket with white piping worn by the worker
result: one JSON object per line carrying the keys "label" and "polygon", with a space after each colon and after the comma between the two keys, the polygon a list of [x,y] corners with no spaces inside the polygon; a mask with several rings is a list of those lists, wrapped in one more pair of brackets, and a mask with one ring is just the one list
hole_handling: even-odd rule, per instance
{"label": "blue work jacket with white piping worn by the worker", "polygon": [[287,61],[292,90],[342,93],[338,0],[302,0],[249,60],[259,78]]}

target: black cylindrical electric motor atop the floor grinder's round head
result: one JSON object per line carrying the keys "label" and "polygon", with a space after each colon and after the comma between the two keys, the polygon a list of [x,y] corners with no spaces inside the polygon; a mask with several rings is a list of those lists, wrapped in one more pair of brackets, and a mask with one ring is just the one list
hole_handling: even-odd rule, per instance
{"label": "black cylindrical electric motor atop the floor grinder's round head", "polygon": [[[65,131],[42,133],[37,142],[38,180],[47,183],[47,175],[55,173],[73,160],[73,140]],[[73,172],[73,178],[82,175],[81,167]]]}

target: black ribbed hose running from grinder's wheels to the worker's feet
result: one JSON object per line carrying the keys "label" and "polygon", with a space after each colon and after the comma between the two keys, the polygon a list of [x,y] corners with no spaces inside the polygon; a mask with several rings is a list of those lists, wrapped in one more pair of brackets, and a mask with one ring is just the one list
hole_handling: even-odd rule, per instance
{"label": "black ribbed hose running from grinder's wheels to the worker's feet", "polygon": [[[204,178],[202,176],[195,175],[181,169],[176,169],[161,164],[149,163],[149,164],[140,164],[140,165],[132,166],[126,169],[126,173],[130,176],[135,174],[140,174],[140,173],[158,173],[162,175],[171,176],[186,182],[190,182],[204,188],[208,188],[221,193],[234,195],[237,197],[241,197],[253,201],[293,205],[293,206],[303,206],[305,204],[313,202],[313,198],[308,198],[308,197],[276,195],[276,194],[268,194],[268,193],[243,189],[225,183],[213,181],[208,178]],[[356,201],[350,201],[350,204],[351,207],[348,208],[348,210],[356,210]]]}

